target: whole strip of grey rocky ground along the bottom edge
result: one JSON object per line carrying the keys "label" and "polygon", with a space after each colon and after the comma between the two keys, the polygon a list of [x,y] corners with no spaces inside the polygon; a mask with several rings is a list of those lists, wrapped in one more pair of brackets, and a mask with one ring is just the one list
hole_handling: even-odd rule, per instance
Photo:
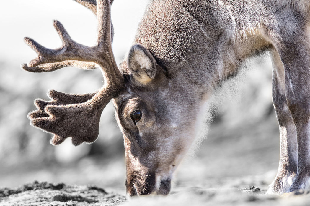
{"label": "whole strip of grey rocky ground along the bottom edge", "polygon": [[308,205],[310,191],[295,191],[285,195],[267,195],[266,188],[250,186],[176,187],[170,195],[142,195],[130,201],[123,195],[108,193],[91,185],[66,185],[38,182],[15,189],[0,188],[0,206],[78,206],[78,205]]}

